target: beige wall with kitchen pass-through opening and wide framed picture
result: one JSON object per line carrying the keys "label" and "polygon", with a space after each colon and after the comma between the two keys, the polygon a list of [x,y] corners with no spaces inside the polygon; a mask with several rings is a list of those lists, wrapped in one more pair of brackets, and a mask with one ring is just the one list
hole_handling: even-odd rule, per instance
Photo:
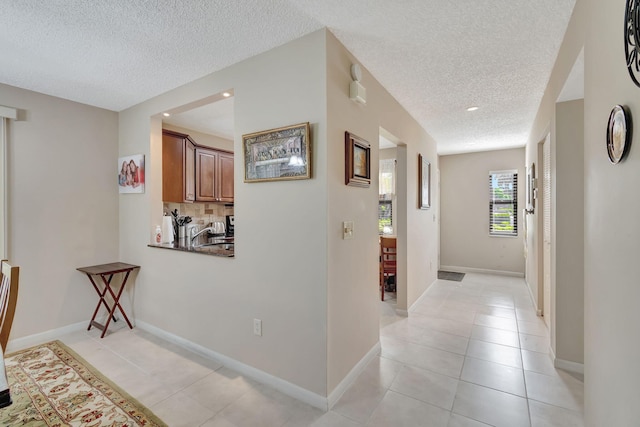
{"label": "beige wall with kitchen pass-through opening and wide framed picture", "polygon": [[[326,395],[327,189],[325,37],[313,33],[120,113],[120,151],[149,153],[150,191],[120,198],[122,258],[142,268],[136,317]],[[235,168],[234,259],[148,248],[161,214],[161,124],[150,117],[232,88],[241,136],[309,121],[310,180],[243,183]],[[149,135],[151,134],[151,141]],[[262,319],[263,336],[253,335]]]}

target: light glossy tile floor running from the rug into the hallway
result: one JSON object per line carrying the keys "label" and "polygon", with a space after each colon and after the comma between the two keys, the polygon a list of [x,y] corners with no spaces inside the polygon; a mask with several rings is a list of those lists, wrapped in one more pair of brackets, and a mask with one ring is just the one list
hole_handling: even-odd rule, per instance
{"label": "light glossy tile floor running from the rug into the hallway", "polygon": [[[324,413],[141,329],[61,340],[170,426],[582,426],[522,279],[438,280],[409,317],[381,302],[382,353]],[[121,323],[121,322],[120,322]]]}

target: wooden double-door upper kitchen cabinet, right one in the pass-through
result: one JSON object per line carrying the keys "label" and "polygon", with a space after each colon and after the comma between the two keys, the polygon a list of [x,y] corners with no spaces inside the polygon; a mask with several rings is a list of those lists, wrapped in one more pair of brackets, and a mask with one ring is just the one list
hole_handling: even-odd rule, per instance
{"label": "wooden double-door upper kitchen cabinet, right one in the pass-through", "polygon": [[233,153],[196,147],[196,201],[233,203]]}

